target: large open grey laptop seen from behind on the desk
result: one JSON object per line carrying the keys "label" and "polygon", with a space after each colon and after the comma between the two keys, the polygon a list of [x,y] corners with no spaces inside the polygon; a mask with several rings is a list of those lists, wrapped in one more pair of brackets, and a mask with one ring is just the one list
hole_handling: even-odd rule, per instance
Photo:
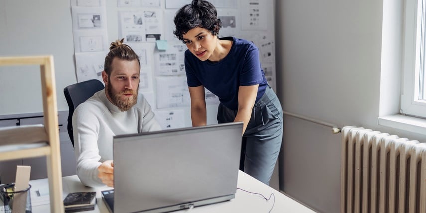
{"label": "large open grey laptop seen from behind on the desk", "polygon": [[113,213],[163,213],[235,198],[242,122],[119,135]]}

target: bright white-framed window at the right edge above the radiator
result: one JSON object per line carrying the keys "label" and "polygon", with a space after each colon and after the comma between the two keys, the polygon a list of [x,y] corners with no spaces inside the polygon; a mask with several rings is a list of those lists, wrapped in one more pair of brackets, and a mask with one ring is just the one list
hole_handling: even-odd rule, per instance
{"label": "bright white-framed window at the right edge above the radiator", "polygon": [[406,0],[401,114],[426,118],[426,0]]}

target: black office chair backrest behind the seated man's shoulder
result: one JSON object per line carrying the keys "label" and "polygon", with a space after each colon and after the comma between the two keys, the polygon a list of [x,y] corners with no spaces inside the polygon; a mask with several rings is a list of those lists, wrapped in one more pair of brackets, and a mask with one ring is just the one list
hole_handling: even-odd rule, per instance
{"label": "black office chair backrest behind the seated man's shoulder", "polygon": [[95,92],[104,88],[104,84],[95,79],[72,84],[64,88],[65,99],[67,100],[69,108],[67,129],[73,147],[74,135],[72,131],[72,114],[74,113],[75,108],[92,97]]}

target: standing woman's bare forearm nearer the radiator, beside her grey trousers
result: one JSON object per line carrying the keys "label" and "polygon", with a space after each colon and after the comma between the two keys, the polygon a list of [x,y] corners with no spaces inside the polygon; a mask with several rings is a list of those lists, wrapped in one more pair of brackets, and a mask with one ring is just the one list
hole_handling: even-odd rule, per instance
{"label": "standing woman's bare forearm nearer the radiator, beside her grey trousers", "polygon": [[252,86],[240,86],[238,89],[238,111],[234,122],[243,122],[243,134],[252,116],[252,109],[255,105],[258,87],[259,84],[256,84]]}

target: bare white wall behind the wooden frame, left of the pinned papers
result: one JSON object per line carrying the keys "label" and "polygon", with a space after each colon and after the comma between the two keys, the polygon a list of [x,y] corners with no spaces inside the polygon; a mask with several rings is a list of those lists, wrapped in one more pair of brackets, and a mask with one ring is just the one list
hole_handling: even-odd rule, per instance
{"label": "bare white wall behind the wooden frame, left of the pinned papers", "polygon": [[[58,110],[68,110],[63,88],[76,82],[69,2],[0,0],[0,56],[22,55],[53,55]],[[0,68],[0,115],[43,111],[39,70]]]}

